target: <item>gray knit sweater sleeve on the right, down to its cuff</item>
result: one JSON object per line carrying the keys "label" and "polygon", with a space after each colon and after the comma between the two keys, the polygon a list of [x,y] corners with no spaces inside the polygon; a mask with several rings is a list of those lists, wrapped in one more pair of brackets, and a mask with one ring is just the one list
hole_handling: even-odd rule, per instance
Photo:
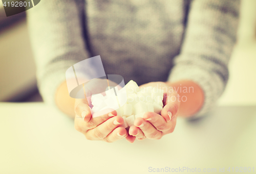
{"label": "gray knit sweater sleeve on the right, down to its cuff", "polygon": [[168,81],[190,80],[204,91],[204,104],[194,117],[213,108],[228,80],[228,62],[239,19],[239,0],[191,1],[180,54]]}

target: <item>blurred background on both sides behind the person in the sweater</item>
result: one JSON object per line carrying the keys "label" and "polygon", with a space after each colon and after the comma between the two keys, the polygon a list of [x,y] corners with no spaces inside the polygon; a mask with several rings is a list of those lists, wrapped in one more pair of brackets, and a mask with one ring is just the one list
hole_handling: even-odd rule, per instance
{"label": "blurred background on both sides behind the person in the sweater", "polygon": [[[256,1],[241,1],[238,41],[219,105],[256,105]],[[26,13],[6,17],[0,2],[0,102],[41,102]]]}

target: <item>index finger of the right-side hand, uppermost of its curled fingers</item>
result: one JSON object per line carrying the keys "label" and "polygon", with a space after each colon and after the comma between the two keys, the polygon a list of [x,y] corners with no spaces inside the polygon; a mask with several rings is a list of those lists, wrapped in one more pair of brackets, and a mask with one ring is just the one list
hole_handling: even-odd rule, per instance
{"label": "index finger of the right-side hand, uppermost of its curled fingers", "polygon": [[161,132],[168,131],[173,126],[172,123],[167,123],[161,115],[155,112],[146,112],[143,115],[143,119],[150,122],[158,131]]}

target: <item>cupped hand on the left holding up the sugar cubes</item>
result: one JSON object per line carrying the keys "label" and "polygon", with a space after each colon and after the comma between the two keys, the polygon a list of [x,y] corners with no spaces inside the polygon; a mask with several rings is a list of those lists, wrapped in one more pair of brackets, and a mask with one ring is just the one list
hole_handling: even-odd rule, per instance
{"label": "cupped hand on the left holding up the sugar cubes", "polygon": [[119,127],[123,123],[117,112],[110,112],[101,116],[92,117],[87,99],[76,99],[75,101],[75,129],[86,136],[88,140],[103,140],[114,142],[127,137],[129,134],[125,128]]}

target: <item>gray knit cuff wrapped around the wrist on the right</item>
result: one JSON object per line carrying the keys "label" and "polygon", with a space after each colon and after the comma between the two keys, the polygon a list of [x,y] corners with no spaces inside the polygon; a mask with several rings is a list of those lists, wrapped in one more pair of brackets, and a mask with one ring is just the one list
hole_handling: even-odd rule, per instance
{"label": "gray knit cuff wrapped around the wrist on the right", "polygon": [[204,104],[202,108],[190,118],[197,118],[207,114],[214,106],[224,90],[224,82],[217,73],[195,67],[195,65],[176,65],[169,77],[168,82],[189,80],[197,83],[204,92]]}

